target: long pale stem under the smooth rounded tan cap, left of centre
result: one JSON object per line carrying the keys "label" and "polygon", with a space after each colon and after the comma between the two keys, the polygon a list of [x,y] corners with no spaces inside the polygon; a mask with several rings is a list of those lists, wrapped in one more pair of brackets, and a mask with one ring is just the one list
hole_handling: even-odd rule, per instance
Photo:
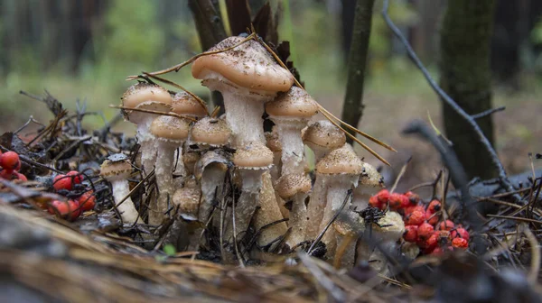
{"label": "long pale stem under the smooth rounded tan cap, left of centre", "polygon": [[156,209],[151,209],[149,213],[149,224],[156,225],[162,222],[168,208],[168,198],[173,197],[173,154],[177,146],[178,144],[162,141],[156,144],[158,154],[154,171],[160,195],[158,196]]}

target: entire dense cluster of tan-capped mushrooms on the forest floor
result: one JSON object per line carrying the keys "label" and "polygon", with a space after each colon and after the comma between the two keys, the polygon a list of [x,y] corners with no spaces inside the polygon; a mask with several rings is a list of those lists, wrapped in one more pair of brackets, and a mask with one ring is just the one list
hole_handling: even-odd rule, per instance
{"label": "entire dense cluster of tan-capped mushrooms on the forest floor", "polygon": [[[222,251],[235,248],[235,257],[254,249],[293,252],[320,239],[332,259],[347,232],[328,227],[341,210],[352,211],[350,199],[343,201],[354,188],[370,197],[382,179],[339,127],[311,122],[320,107],[294,85],[289,70],[258,41],[241,41],[229,37],[192,64],[192,76],[223,96],[225,115],[209,115],[192,94],[155,84],[136,84],[123,96],[126,119],[137,124],[144,176],[154,168],[158,192],[139,207],[148,209],[146,216],[133,213],[129,197],[126,208],[119,205],[121,215],[149,225],[176,215],[199,221],[201,236],[192,236],[188,245],[194,249],[209,247],[213,234],[220,234]],[[272,132],[264,131],[264,116],[275,124]],[[309,149],[315,153],[314,174],[307,169]],[[120,177],[108,178],[116,182],[114,190],[127,194]],[[393,228],[404,228],[399,221]],[[350,230],[362,231],[362,220],[356,222],[360,226]]]}

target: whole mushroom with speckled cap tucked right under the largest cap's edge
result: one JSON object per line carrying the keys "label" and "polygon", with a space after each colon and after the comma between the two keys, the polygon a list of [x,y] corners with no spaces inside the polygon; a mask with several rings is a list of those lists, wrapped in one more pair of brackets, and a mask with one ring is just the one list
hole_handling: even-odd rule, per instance
{"label": "whole mushroom with speckled cap tucked right under the largest cap's edge", "polygon": [[266,103],[266,113],[275,123],[282,145],[282,175],[304,171],[304,143],[301,130],[318,114],[318,104],[303,88],[291,87]]}

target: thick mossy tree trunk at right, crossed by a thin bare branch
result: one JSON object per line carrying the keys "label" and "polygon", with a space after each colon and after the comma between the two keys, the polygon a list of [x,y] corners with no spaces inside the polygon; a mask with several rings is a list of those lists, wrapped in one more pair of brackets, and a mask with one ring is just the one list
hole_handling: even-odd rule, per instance
{"label": "thick mossy tree trunk at right, crossed by a thin bare branch", "polygon": [[[441,86],[468,113],[491,108],[490,41],[494,0],[448,1],[441,30]],[[472,127],[444,104],[444,128],[453,150],[469,178],[498,175]],[[490,116],[478,119],[482,132],[493,143]]]}

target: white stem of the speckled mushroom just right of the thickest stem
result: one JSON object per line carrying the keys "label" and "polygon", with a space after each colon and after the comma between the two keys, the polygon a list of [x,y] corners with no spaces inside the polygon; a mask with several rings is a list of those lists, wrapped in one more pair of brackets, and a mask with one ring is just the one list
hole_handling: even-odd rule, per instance
{"label": "white stem of the speckled mushroom just right of the thickest stem", "polygon": [[278,138],[282,145],[282,171],[281,175],[304,172],[304,143],[301,130],[306,123],[303,119],[274,118]]}

